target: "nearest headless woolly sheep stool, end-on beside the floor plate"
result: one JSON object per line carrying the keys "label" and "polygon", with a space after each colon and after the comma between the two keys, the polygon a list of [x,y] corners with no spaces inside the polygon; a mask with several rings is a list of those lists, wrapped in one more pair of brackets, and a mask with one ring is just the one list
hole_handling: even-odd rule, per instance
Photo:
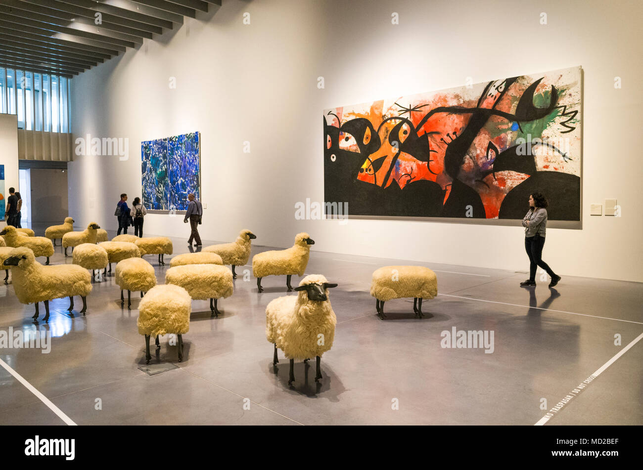
{"label": "nearest headless woolly sheep stool, end-on beside the floor plate", "polygon": [[166,284],[152,287],[138,306],[138,333],[145,335],[145,360],[150,363],[150,336],[156,336],[156,347],[159,336],[168,333],[177,335],[179,362],[183,360],[183,338],[190,330],[190,313],[192,299],[190,294],[179,286]]}

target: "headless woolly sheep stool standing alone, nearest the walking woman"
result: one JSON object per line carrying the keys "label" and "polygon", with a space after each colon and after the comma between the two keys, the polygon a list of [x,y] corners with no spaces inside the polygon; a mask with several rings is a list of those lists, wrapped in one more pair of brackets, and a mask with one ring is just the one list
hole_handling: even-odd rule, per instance
{"label": "headless woolly sheep stool standing alone, nearest the walking woman", "polygon": [[386,318],[384,302],[404,297],[413,297],[415,316],[422,318],[422,299],[438,295],[438,280],[435,273],[424,266],[384,266],[373,273],[370,295],[377,299],[377,315],[382,319]]}

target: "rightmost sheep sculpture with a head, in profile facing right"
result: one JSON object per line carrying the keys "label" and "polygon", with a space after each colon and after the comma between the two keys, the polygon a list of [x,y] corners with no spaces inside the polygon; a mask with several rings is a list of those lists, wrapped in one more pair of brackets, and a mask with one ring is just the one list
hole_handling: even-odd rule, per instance
{"label": "rightmost sheep sculpture with a head, in profile facing right", "polygon": [[257,288],[263,292],[261,278],[267,275],[286,275],[285,285],[288,292],[293,290],[290,278],[293,274],[303,275],[308,265],[311,246],[314,240],[306,232],[294,237],[294,245],[285,250],[271,250],[257,253],[252,258],[252,271],[257,277]]}

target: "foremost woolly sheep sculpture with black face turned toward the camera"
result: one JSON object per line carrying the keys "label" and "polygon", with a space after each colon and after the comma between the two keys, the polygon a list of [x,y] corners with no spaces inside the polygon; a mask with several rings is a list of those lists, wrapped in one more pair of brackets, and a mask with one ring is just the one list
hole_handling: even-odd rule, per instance
{"label": "foremost woolly sheep sculpture with black face turned toward the camera", "polygon": [[337,284],[321,274],[310,274],[294,289],[298,295],[278,297],[266,307],[266,338],[275,345],[273,365],[279,362],[277,349],[281,349],[290,360],[289,384],[294,382],[294,360],[307,363],[312,356],[317,362],[315,381],[321,379],[321,355],[331,349],[337,324],[328,297],[332,287]]}

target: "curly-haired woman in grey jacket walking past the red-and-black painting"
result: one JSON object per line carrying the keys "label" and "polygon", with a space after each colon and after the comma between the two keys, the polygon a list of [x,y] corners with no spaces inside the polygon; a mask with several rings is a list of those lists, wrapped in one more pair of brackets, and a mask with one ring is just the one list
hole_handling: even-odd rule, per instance
{"label": "curly-haired woman in grey jacket walking past the red-and-black painting", "polygon": [[547,227],[547,199],[541,193],[532,193],[529,196],[529,211],[523,218],[525,227],[525,250],[529,256],[529,279],[520,283],[521,286],[536,285],[536,266],[540,266],[552,278],[549,287],[554,287],[561,277],[554,274],[545,261],[543,261],[543,246],[545,245],[545,227]]}

